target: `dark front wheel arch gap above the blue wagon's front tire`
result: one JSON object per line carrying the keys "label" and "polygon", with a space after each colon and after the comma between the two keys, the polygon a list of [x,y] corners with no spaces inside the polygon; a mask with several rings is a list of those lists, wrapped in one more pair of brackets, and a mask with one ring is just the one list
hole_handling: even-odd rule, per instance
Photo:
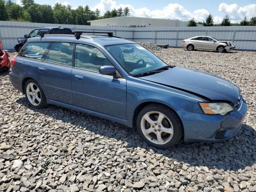
{"label": "dark front wheel arch gap above the blue wagon's front tire", "polygon": [[158,104],[158,105],[162,105],[164,107],[167,107],[169,108],[170,110],[172,110],[172,112],[174,112],[174,114],[176,114],[178,120],[180,121],[180,124],[182,126],[182,139],[184,138],[184,127],[183,127],[183,124],[182,124],[182,120],[180,119],[180,116],[178,115],[178,113],[170,106],[166,105],[166,104],[163,104],[161,102],[157,102],[157,101],[146,101],[146,102],[142,102],[140,103],[134,110],[134,113],[133,113],[133,117],[132,117],[132,126],[133,127],[136,127],[136,120],[137,120],[137,116],[138,116],[138,113],[140,112],[140,110],[142,110],[144,107],[150,105],[150,104]]}

